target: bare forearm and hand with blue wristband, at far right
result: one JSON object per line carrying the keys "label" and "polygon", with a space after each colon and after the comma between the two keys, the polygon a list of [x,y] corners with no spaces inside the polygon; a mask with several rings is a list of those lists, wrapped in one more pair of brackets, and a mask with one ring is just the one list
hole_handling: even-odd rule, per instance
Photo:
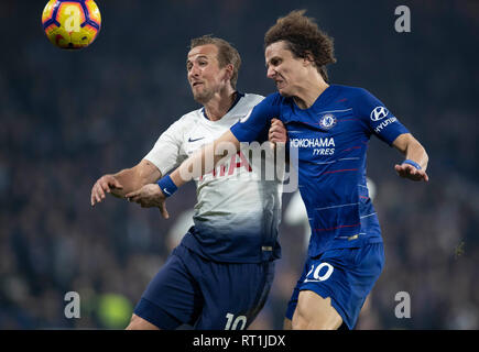
{"label": "bare forearm and hand with blue wristband, at far right", "polygon": [[399,135],[392,145],[405,156],[401,165],[394,165],[399,176],[412,180],[429,180],[426,174],[429,160],[426,150],[411,133]]}

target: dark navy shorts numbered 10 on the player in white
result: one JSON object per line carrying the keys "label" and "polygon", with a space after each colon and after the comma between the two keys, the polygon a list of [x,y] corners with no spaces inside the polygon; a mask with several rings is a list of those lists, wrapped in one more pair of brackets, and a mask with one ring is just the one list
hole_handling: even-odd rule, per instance
{"label": "dark navy shorts numbered 10 on the player in white", "polygon": [[160,329],[243,330],[263,308],[274,262],[218,263],[179,244],[150,282],[134,314]]}

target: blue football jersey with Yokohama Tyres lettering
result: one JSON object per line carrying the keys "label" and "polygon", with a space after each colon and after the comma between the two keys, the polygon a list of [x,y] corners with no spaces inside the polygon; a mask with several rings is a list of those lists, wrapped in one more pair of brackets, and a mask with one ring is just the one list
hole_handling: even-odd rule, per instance
{"label": "blue football jersey with Yokohama Tyres lettering", "polygon": [[391,145],[409,133],[404,125],[366,89],[330,85],[308,109],[270,95],[230,130],[240,142],[252,142],[272,118],[284,123],[290,148],[297,150],[298,188],[312,229],[308,255],[381,242],[366,185],[368,141],[374,134]]}

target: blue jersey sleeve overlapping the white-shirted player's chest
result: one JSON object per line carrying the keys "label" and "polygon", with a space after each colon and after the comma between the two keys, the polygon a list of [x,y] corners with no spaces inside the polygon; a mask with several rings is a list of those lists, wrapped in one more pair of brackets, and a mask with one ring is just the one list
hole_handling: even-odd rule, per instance
{"label": "blue jersey sleeve overlapping the white-shirted player's chest", "polygon": [[280,118],[281,96],[273,94],[264,98],[247,116],[231,127],[231,133],[239,142],[253,142],[262,139],[271,119]]}

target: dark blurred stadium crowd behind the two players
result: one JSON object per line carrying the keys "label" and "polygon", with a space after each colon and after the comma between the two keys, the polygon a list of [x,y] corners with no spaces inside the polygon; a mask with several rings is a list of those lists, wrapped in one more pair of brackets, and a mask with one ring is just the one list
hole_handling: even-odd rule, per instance
{"label": "dark blurred stadium crowd behind the two players", "polygon": [[[126,327],[189,221],[195,187],[168,200],[163,220],[112,197],[91,208],[92,184],[135,165],[198,108],[185,70],[192,37],[231,42],[243,61],[238,89],[273,92],[263,34],[294,9],[335,38],[331,81],[379,97],[429,154],[431,182],[416,184],[395,175],[395,150],[371,140],[385,266],[357,329],[479,328],[477,1],[97,0],[102,30],[80,52],[48,43],[45,3],[0,2],[0,329]],[[394,30],[402,4],[411,33]],[[283,218],[283,257],[252,329],[282,328],[304,237]],[[68,292],[80,296],[79,319],[65,318]],[[394,315],[399,292],[410,294],[409,319]]]}

